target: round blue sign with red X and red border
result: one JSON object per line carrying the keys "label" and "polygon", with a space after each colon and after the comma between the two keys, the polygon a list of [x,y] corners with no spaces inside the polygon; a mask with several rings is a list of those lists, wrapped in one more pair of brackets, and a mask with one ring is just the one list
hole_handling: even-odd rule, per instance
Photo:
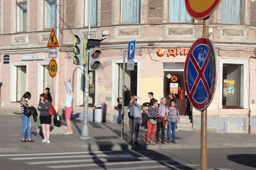
{"label": "round blue sign with red X and red border", "polygon": [[211,104],[216,77],[215,48],[209,38],[198,38],[191,46],[184,66],[185,89],[196,110],[205,110]]}

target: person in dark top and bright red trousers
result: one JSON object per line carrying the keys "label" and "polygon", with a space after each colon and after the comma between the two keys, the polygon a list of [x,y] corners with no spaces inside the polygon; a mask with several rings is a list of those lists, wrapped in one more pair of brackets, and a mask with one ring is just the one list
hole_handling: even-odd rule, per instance
{"label": "person in dark top and bright red trousers", "polygon": [[[154,135],[156,131],[156,121],[157,121],[157,115],[161,113],[161,111],[157,108],[157,100],[153,99],[152,100],[152,106],[148,106],[143,108],[143,110],[147,113],[147,134],[145,138],[145,145],[151,144],[155,145],[154,143]],[[150,136],[150,141],[148,141],[149,134],[151,133]]]}

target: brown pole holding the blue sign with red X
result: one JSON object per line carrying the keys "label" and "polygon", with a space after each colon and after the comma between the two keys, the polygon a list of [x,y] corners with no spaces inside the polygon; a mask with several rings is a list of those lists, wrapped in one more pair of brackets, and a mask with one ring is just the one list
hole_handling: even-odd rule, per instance
{"label": "brown pole holding the blue sign with red X", "polygon": [[[204,18],[203,36],[209,37],[209,17]],[[201,111],[201,170],[207,169],[207,108]]]}

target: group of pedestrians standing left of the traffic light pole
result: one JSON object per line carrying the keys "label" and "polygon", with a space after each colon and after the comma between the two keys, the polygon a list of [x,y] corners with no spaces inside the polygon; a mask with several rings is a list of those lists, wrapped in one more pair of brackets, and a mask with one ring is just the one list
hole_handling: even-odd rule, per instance
{"label": "group of pedestrians standing left of the traffic light pole", "polygon": [[[72,86],[70,84],[70,80],[64,81],[65,83],[65,89],[66,89],[66,96],[65,96],[65,119],[67,122],[67,132],[65,132],[65,135],[73,134],[72,132],[72,126],[70,122],[70,116],[72,113],[72,99],[73,99],[73,91]],[[40,111],[40,124],[42,127],[42,133],[43,133],[43,140],[42,143],[48,143],[50,144],[50,126],[52,122],[52,115],[58,117],[55,120],[54,117],[54,125],[57,127],[60,127],[61,125],[61,117],[56,114],[55,109],[52,106],[52,96],[51,96],[51,89],[49,87],[45,88],[45,93],[40,94],[39,97],[39,104],[38,104],[38,111]],[[31,99],[31,93],[25,92],[25,94],[20,99],[20,108],[21,108],[21,114],[20,117],[22,118],[22,135],[21,135],[21,142],[34,142],[33,139],[31,139],[31,120],[30,116],[33,115],[33,118],[36,122],[37,112],[36,108],[29,104],[29,99]],[[25,138],[25,134],[27,131],[27,138]]]}

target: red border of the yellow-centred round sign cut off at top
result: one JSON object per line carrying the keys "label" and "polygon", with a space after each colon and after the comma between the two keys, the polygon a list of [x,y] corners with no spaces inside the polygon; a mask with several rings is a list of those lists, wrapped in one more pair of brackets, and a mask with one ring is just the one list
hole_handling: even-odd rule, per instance
{"label": "red border of the yellow-centred round sign cut off at top", "polygon": [[215,0],[214,3],[212,3],[212,5],[207,10],[198,13],[192,9],[191,5],[189,4],[189,0],[185,0],[188,14],[195,19],[203,19],[208,17],[217,8],[219,3],[220,3],[220,0]]}

